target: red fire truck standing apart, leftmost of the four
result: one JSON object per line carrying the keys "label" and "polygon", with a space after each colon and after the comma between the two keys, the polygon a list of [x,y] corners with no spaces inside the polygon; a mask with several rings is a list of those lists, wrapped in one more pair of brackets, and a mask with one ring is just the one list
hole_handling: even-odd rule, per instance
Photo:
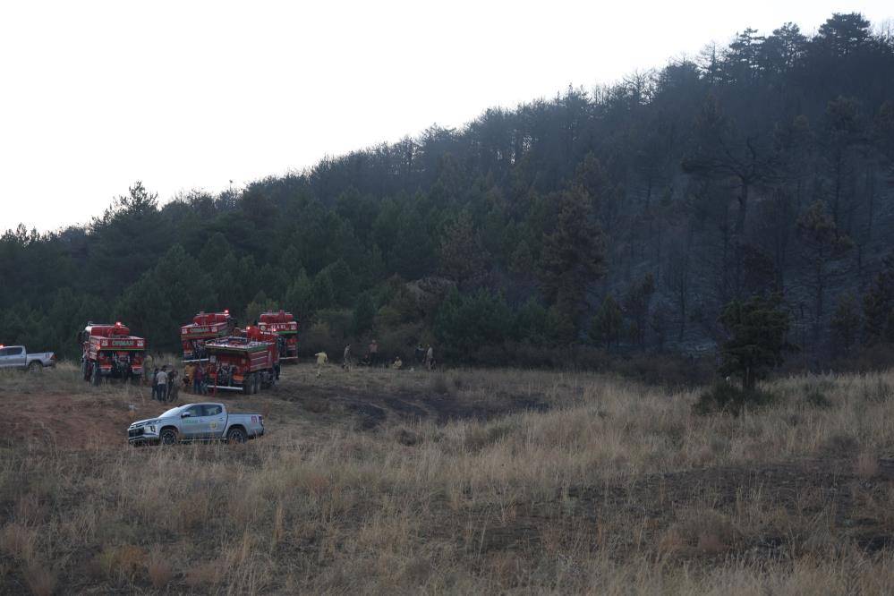
{"label": "red fire truck standing apart, leftmost of the four", "polygon": [[143,374],[146,340],[132,336],[121,322],[92,321],[78,334],[81,342],[81,372],[94,385],[104,378],[138,381]]}

